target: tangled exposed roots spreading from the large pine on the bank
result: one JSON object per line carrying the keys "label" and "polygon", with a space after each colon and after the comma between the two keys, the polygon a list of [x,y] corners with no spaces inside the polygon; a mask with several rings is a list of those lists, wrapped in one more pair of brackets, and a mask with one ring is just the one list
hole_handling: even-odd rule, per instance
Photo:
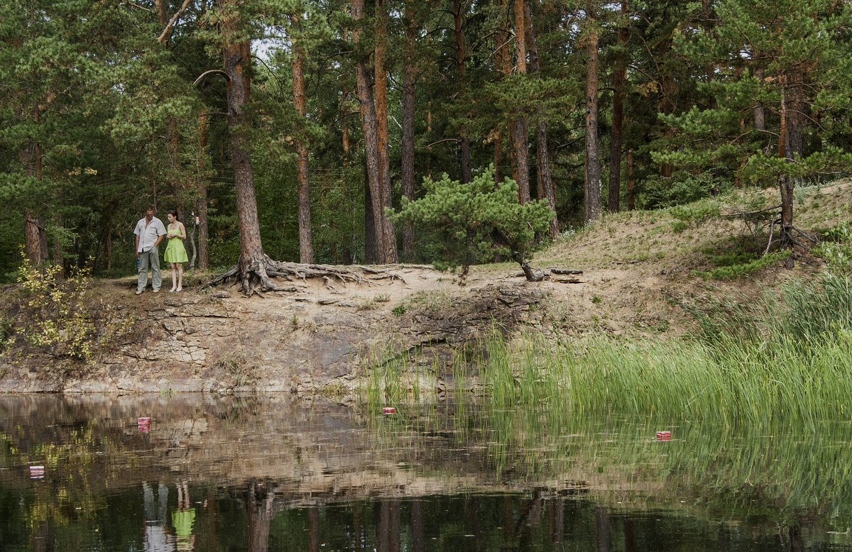
{"label": "tangled exposed roots spreading from the large pine on the bank", "polygon": [[[243,264],[243,263],[240,263]],[[348,267],[336,265],[301,264],[298,262],[273,261],[263,255],[254,262],[245,263],[245,268],[240,269],[240,264],[226,273],[222,273],[210,280],[201,289],[210,288],[229,280],[238,282],[245,296],[254,294],[262,296],[267,291],[296,291],[296,287],[290,285],[279,285],[273,278],[285,279],[289,282],[308,279],[322,279],[325,287],[334,289],[333,283],[372,285],[379,280],[400,280],[406,283],[400,275],[392,272],[389,267],[364,267],[353,265]]]}

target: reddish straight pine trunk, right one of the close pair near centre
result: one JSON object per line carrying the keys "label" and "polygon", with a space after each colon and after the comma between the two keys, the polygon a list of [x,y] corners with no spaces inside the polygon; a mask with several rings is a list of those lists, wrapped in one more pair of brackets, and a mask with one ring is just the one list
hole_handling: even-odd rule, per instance
{"label": "reddish straight pine trunk, right one of the close pair near centre", "polygon": [[379,252],[381,262],[397,262],[396,234],[394,223],[385,216],[386,207],[391,207],[390,187],[390,160],[388,152],[388,72],[384,68],[384,55],[387,49],[388,37],[388,14],[384,0],[376,0],[376,49],[374,68],[376,75],[376,125],[377,125],[377,150],[378,150],[378,175],[382,200],[380,210],[382,213],[382,244],[383,250]]}

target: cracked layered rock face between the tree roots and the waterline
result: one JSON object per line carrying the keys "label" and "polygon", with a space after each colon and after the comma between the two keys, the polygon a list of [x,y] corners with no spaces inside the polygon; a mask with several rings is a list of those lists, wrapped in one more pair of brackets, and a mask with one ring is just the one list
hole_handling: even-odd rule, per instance
{"label": "cracked layered rock face between the tree roots and the waterline", "polygon": [[363,296],[305,289],[120,298],[109,316],[93,316],[102,338],[88,365],[59,369],[59,359],[37,351],[22,351],[17,361],[7,353],[0,392],[347,396],[372,365],[389,359],[420,366],[417,385],[440,391],[459,351],[544,316],[545,288],[516,279],[415,293],[404,284]]}

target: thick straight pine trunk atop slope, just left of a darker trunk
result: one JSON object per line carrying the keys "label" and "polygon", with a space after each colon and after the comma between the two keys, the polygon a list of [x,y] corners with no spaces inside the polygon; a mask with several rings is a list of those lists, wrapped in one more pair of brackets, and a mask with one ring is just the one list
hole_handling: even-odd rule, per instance
{"label": "thick straight pine trunk atop slope, just left of a darker trunk", "polygon": [[594,2],[586,3],[585,200],[583,220],[601,216],[601,165],[597,147],[598,34]]}

